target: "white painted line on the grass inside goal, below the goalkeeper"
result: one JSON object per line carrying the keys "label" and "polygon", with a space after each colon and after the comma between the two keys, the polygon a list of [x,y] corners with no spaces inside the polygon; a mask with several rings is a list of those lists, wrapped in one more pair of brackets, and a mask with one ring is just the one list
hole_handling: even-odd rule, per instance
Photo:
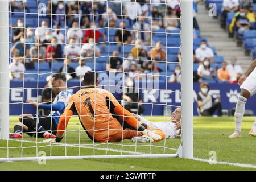
{"label": "white painted line on the grass inside goal, below the goalkeeper", "polygon": [[50,145],[56,145],[56,146],[64,146],[64,147],[90,148],[90,149],[104,150],[104,151],[110,151],[110,152],[123,152],[123,153],[126,153],[126,154],[145,155],[145,153],[141,153],[141,152],[124,151],[124,150],[117,150],[117,149],[113,149],[113,148],[97,148],[97,147],[89,147],[89,146],[77,146],[75,144],[67,144],[67,143],[35,142],[35,141],[29,141],[29,140],[15,140],[15,139],[10,139],[10,140],[15,141],[15,142],[48,144],[49,146]]}

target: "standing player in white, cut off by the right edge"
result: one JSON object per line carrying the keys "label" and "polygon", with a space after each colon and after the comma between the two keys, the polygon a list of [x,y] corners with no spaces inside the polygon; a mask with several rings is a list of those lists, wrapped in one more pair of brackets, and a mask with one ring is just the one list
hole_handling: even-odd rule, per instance
{"label": "standing player in white, cut off by the right edge", "polygon": [[[247,71],[238,80],[238,85],[240,85],[241,93],[237,97],[237,105],[235,111],[235,122],[236,129],[229,138],[242,137],[241,135],[241,125],[243,115],[245,114],[245,104],[247,100],[256,93],[256,59],[251,63]],[[249,131],[249,135],[256,137],[256,120],[253,123],[253,127]]]}

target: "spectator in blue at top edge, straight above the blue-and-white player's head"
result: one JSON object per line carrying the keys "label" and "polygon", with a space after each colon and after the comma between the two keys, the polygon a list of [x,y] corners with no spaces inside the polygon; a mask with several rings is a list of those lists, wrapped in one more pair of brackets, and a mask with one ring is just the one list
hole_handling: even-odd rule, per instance
{"label": "spectator in blue at top edge, straight above the blue-and-white player's head", "polygon": [[[56,2],[55,2],[56,3]],[[53,24],[54,26],[65,26],[65,5],[63,1],[57,1],[57,6],[55,7],[55,12],[51,11],[51,7],[49,9],[49,12],[52,12],[53,14]]]}

